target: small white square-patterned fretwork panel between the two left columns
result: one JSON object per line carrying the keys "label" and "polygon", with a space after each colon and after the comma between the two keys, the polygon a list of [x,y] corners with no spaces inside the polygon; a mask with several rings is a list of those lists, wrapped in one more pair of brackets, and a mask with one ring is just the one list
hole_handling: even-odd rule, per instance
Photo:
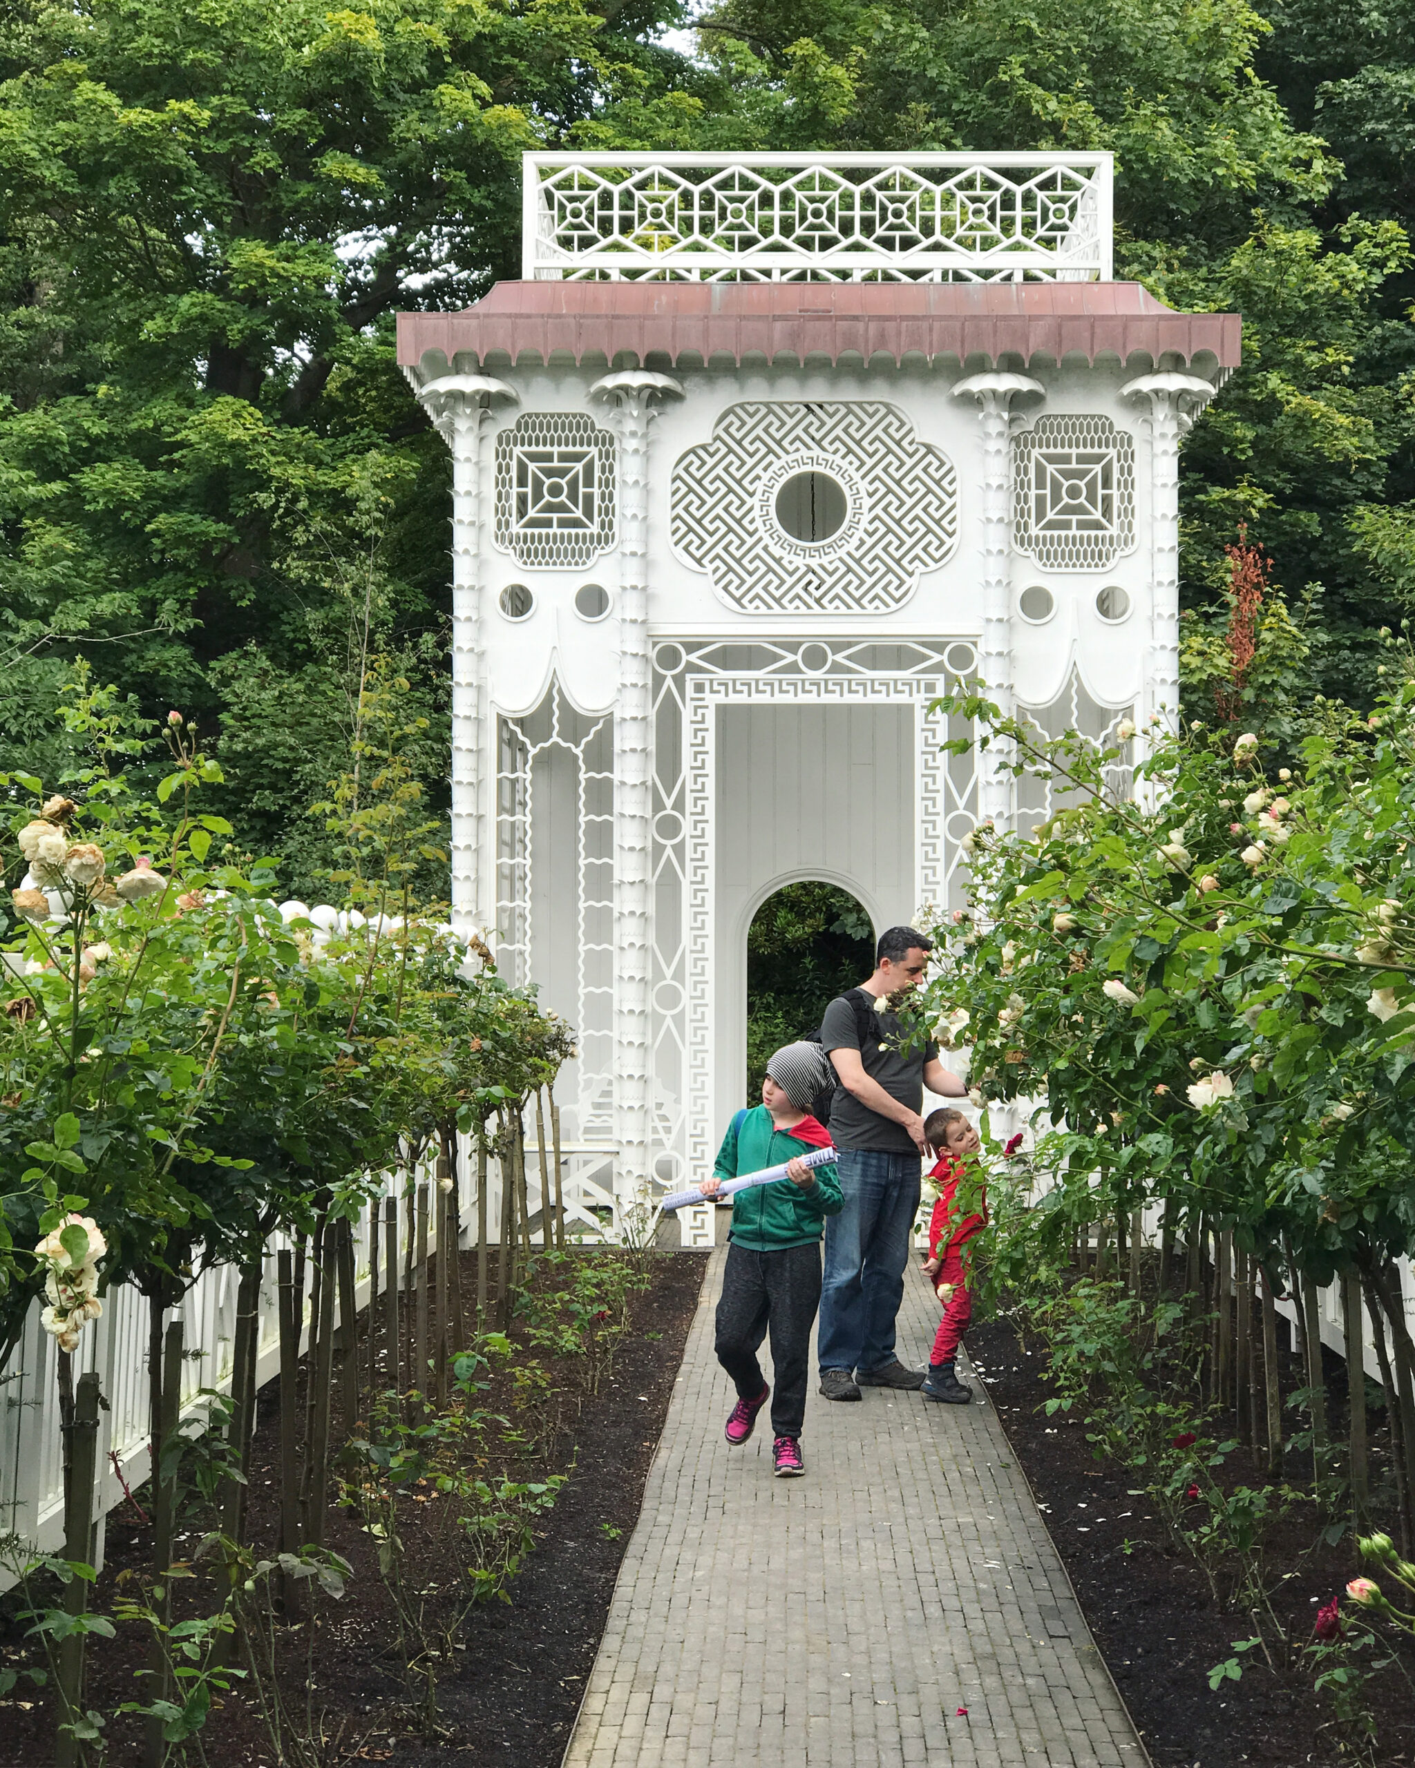
{"label": "small white square-patterned fretwork panel between the two left columns", "polygon": [[525,412],[497,435],[495,541],[575,571],[614,545],[614,437],[580,412]]}

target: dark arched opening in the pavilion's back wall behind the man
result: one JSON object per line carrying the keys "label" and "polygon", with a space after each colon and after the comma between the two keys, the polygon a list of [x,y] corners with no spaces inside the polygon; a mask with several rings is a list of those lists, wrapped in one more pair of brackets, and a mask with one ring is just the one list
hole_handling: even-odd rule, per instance
{"label": "dark arched opening in the pavilion's back wall behind the man", "polygon": [[826,1004],[874,969],[876,930],[863,905],[817,879],[784,884],[746,932],[746,1103],[762,1096],[773,1050],[805,1038]]}

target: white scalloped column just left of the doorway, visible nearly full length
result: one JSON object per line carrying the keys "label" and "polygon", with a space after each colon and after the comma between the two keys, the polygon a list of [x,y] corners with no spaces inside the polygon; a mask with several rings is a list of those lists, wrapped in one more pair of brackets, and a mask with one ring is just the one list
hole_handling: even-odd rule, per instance
{"label": "white scalloped column just left of the doorway, visible nearly full length", "polygon": [[649,1177],[649,424],[681,398],[669,375],[621,370],[591,387],[619,440],[619,695],[614,704],[614,1119],[619,1195]]}

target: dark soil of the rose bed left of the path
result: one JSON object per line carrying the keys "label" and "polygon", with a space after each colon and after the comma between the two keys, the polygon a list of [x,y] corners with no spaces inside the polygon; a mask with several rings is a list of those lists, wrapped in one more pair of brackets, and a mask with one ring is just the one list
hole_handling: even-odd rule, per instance
{"label": "dark soil of the rose bed left of the path", "polygon": [[[619,1563],[639,1519],[706,1257],[695,1252],[653,1255],[649,1289],[631,1298],[628,1330],[617,1340],[612,1368],[596,1395],[577,1395],[582,1360],[539,1353],[548,1376],[550,1429],[541,1434],[541,1448],[522,1466],[516,1466],[513,1439],[495,1471],[508,1467],[516,1478],[564,1473],[566,1485],[536,1528],[536,1551],[511,1581],[509,1600],[470,1612],[456,1662],[439,1680],[437,1738],[419,1736],[407,1718],[393,1616],[371,1542],[352,1510],[331,1503],[325,1542],[350,1561],[354,1574],[345,1597],[325,1605],[317,1644],[317,1704],[324,1708],[329,1740],[322,1752],[325,1768],[363,1761],[396,1761],[398,1768],[451,1761],[465,1768],[559,1768],[605,1628]],[[462,1284],[463,1292],[474,1294],[474,1255],[463,1255]],[[516,1337],[515,1328],[511,1337]],[[269,1383],[260,1395],[249,1482],[248,1538],[262,1552],[272,1551],[279,1519],[276,1388]],[[338,1395],[338,1376],[334,1391]],[[497,1386],[486,1395],[493,1409],[506,1398]],[[547,1416],[545,1400],[539,1416]],[[134,1496],[150,1513],[147,1489]],[[200,1533],[200,1524],[193,1528]],[[191,1543],[195,1538],[189,1535]],[[449,1545],[455,1552],[455,1540]],[[446,1579],[451,1572],[447,1586],[455,1586],[456,1566],[446,1563],[439,1572],[426,1552],[419,1556],[416,1542],[409,1547],[410,1582]],[[124,1574],[147,1577],[150,1552],[150,1528],[127,1505],[115,1510],[90,1609],[110,1612]],[[16,1607],[12,1593],[0,1612],[0,1650],[11,1665],[21,1662],[21,1655],[32,1658]],[[207,1600],[191,1612],[210,1607]],[[290,1651],[302,1655],[294,1637]],[[119,1627],[111,1641],[92,1641],[87,1704],[111,1713],[122,1701],[143,1699],[134,1673],[143,1669],[145,1653],[147,1634],[134,1625]],[[0,1768],[35,1768],[50,1761],[53,1718],[48,1701],[21,1683],[9,1701],[0,1701]],[[106,1759],[111,1768],[136,1768],[142,1761],[136,1727],[133,1718],[110,1722]],[[223,1768],[274,1763],[267,1733],[239,1694],[212,1711],[202,1745],[205,1759]]]}

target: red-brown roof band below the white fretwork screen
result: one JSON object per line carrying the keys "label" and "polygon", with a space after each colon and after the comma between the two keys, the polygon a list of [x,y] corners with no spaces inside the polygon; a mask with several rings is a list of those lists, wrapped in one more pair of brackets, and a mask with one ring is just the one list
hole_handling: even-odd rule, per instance
{"label": "red-brown roof band below the white fretwork screen", "polygon": [[[1174,313],[1139,283],[497,283],[462,313],[400,313],[423,373],[527,361],[699,366],[810,357],[1240,362],[1236,313]],[[430,357],[424,364],[424,357]]]}

